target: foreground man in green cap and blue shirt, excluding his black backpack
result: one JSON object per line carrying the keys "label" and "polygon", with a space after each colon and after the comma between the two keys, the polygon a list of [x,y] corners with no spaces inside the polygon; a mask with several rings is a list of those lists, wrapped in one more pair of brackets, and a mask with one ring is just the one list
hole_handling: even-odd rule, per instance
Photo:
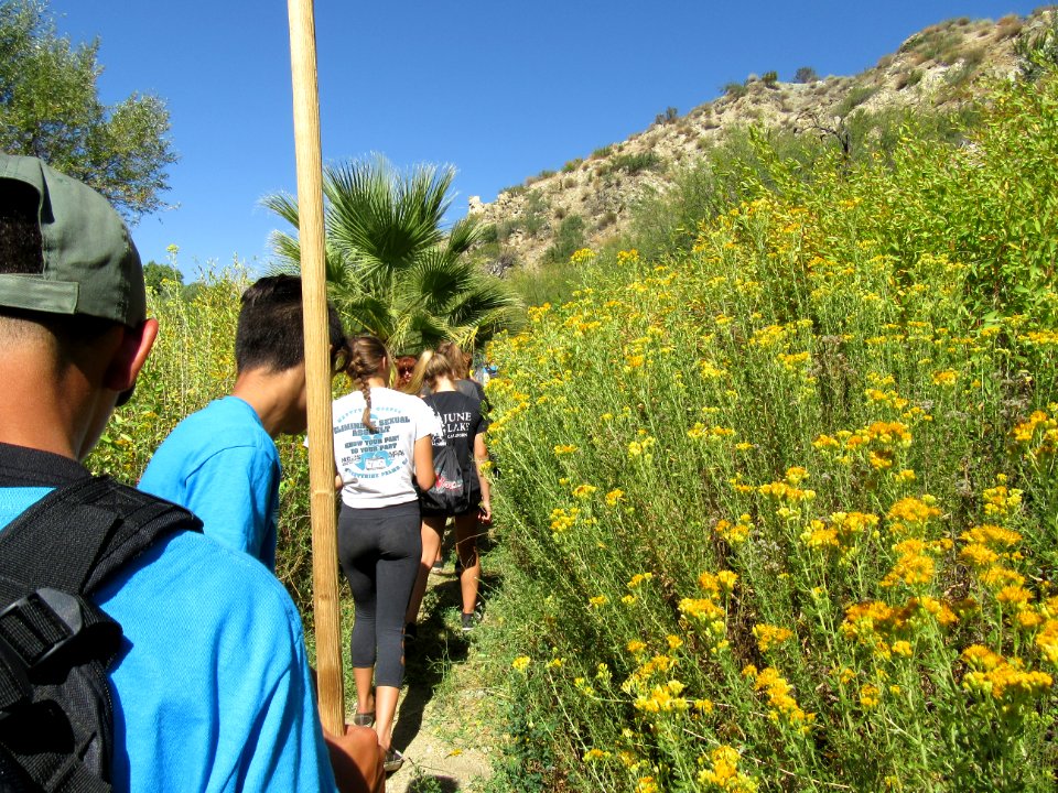
{"label": "foreground man in green cap and blue shirt, excluding his black backpack", "polygon": [[[107,202],[35,157],[0,155],[0,526],[88,477],[80,460],[156,334],[139,256]],[[78,528],[71,520],[71,547]],[[123,633],[107,672],[102,774],[115,790],[327,791],[331,757],[341,790],[381,787],[374,732],[324,740],[300,617],[257,562],[176,530],[91,599]],[[9,731],[32,731],[6,716]]]}

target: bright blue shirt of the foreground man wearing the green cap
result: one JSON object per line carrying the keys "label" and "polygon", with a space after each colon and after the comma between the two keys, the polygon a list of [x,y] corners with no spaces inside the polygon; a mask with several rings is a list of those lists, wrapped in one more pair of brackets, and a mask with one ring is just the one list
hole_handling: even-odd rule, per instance
{"label": "bright blue shirt of the foreground man wearing the green cap", "polygon": [[[0,488],[0,529],[51,488]],[[116,791],[334,791],[301,618],[261,565],[192,532],[104,587]]]}

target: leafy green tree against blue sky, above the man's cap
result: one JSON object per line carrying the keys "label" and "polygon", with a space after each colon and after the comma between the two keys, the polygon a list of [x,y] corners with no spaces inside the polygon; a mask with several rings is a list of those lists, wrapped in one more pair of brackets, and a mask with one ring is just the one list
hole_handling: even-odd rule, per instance
{"label": "leafy green tree against blue sky, above the man's cap", "polygon": [[74,47],[60,36],[40,0],[0,3],[0,150],[45,160],[134,221],[169,187],[169,111],[138,94],[102,105],[98,50],[98,40]]}

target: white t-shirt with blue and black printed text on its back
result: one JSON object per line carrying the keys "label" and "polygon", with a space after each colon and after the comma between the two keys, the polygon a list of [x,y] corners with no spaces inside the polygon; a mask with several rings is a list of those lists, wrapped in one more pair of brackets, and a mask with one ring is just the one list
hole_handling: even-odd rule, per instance
{"label": "white t-shirt with blue and black printed text on its back", "polygon": [[334,401],[334,460],[342,477],[342,501],[354,508],[414,501],[415,441],[441,431],[436,414],[418,397],[371,389],[371,433],[361,421],[364,394]]}

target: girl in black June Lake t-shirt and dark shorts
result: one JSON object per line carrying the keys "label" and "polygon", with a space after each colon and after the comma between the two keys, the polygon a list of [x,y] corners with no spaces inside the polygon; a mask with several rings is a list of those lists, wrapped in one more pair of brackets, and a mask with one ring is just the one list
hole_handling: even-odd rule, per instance
{"label": "girl in black June Lake t-shirt and dark shorts", "polygon": [[438,414],[443,431],[433,438],[434,453],[436,455],[439,444],[451,444],[455,448],[458,469],[452,478],[458,477],[462,482],[463,499],[458,503],[449,502],[442,506],[431,498],[431,493],[422,496],[422,558],[411,602],[404,615],[404,631],[409,637],[417,633],[419,606],[427,590],[430,569],[440,553],[444,525],[449,518],[455,522],[455,551],[462,596],[461,626],[464,631],[474,629],[478,619],[477,595],[482,577],[477,535],[479,524],[490,521],[493,514],[488,479],[482,472],[482,466],[488,460],[485,448],[488,421],[482,415],[482,403],[456,391],[455,371],[446,356],[427,350],[420,362],[423,378],[430,388],[430,394],[423,398],[423,402]]}

